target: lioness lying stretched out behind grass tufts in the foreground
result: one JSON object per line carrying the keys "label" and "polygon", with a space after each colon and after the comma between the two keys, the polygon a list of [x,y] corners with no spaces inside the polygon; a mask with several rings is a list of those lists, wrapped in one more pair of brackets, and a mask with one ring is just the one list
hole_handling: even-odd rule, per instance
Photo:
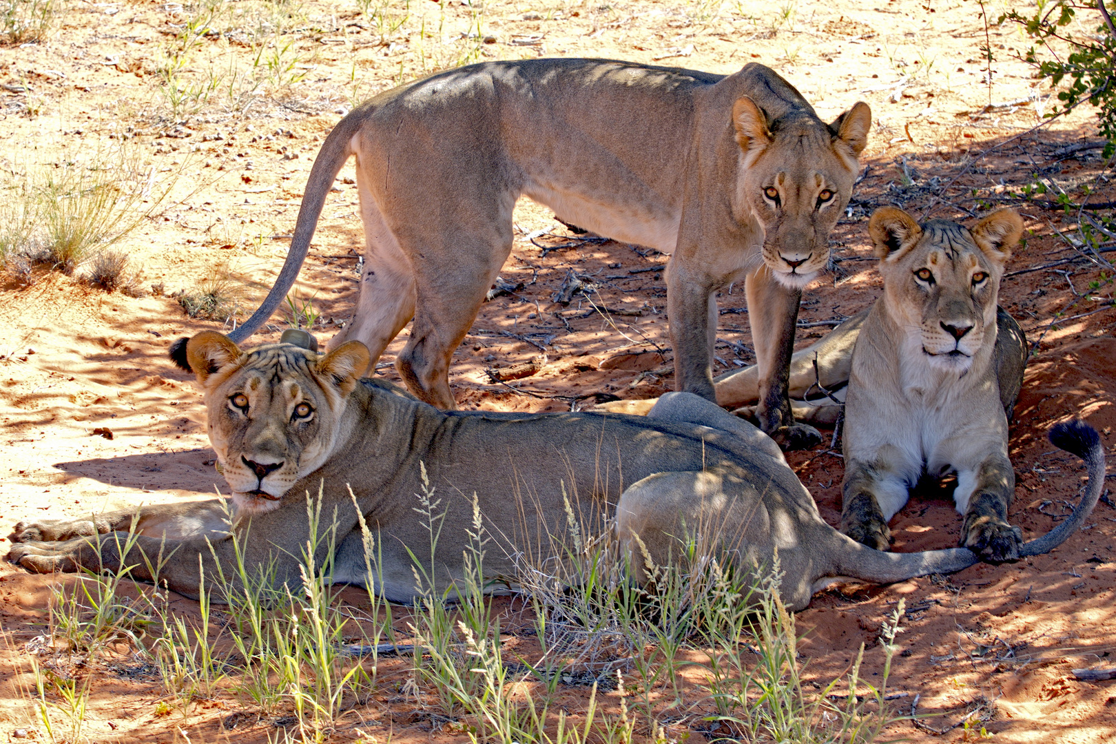
{"label": "lioness lying stretched out behind grass tufts in the foreground", "polygon": [[[547,560],[539,551],[567,542],[564,490],[576,494],[583,523],[615,519],[628,549],[637,549],[638,537],[658,562],[676,550],[677,537],[702,525],[715,530],[710,539],[732,551],[744,571],[770,566],[778,550],[780,591],[792,609],[838,577],[892,582],[977,561],[965,549],[886,553],[840,534],[821,520],[771,438],[689,393],[664,396],[647,417],[445,413],[388,384],[359,379],[368,350],[356,341],[325,356],[291,344],[242,351],[205,331],[186,350],[232,490],[232,525],[222,521],[217,499],[144,508],[138,520],[126,511],[20,523],[10,561],[40,572],[134,566],[135,578],[153,580],[150,567],[169,555],[160,583],[196,596],[202,570],[212,577],[220,563],[227,577],[234,574],[228,569],[237,533],[249,566],[275,561],[276,580],[295,586],[297,557],[311,537],[305,497],[319,487],[320,513],[334,518],[319,529],[336,526],[338,535],[333,579],[372,582],[396,602],[420,596],[412,553],[422,567],[433,559],[439,593],[463,578],[474,494],[494,542],[485,569],[512,580],[517,554]],[[1090,479],[1088,495],[1048,538],[1060,542],[1096,502],[1104,458],[1088,427],[1066,427],[1057,443],[1087,458]],[[420,464],[444,509],[434,555],[414,511]],[[365,569],[357,509],[378,534],[375,576]],[[140,537],[123,558],[123,539],[90,539],[129,529]],[[328,543],[318,544],[316,564],[323,566]]]}

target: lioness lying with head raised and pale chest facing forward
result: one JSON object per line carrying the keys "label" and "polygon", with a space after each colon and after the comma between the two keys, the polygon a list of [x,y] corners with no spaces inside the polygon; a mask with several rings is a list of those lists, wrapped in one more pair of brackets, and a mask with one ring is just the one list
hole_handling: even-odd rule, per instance
{"label": "lioness lying with head raised and pale chest facing forward", "polygon": [[[961,544],[993,562],[1019,558],[1022,538],[1007,520],[1014,493],[1008,419],[1027,344],[997,294],[1022,226],[1011,210],[971,231],[877,210],[868,231],[883,297],[795,354],[792,395],[812,387],[822,397],[824,387],[845,400],[841,531],[857,541],[886,550],[887,522],[910,490],[952,475]],[[741,370],[719,381],[718,399],[740,405],[754,387],[754,373]],[[831,417],[838,406],[828,403],[799,404],[797,417]]]}

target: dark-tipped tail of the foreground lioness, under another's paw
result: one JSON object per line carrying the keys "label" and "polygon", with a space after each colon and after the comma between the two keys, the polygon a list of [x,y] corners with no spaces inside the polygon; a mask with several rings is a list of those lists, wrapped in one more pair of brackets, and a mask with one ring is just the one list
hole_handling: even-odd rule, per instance
{"label": "dark-tipped tail of the foreground lioness, under another's paw", "polygon": [[[1050,431],[1050,442],[1084,460],[1089,481],[1074,512],[1041,538],[1024,542],[1020,557],[1046,553],[1065,542],[1093,512],[1104,490],[1105,451],[1095,428],[1081,421],[1058,424]],[[930,573],[953,573],[979,561],[968,548],[891,553],[873,550],[839,533],[837,537],[843,543],[836,551],[839,557],[836,561],[837,573],[873,583],[892,583]]]}

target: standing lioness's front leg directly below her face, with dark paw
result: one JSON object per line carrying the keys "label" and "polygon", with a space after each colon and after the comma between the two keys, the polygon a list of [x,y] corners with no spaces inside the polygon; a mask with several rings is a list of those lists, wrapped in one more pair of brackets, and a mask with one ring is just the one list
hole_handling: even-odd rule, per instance
{"label": "standing lioness's front leg directly below her face, with dark paw", "polygon": [[820,444],[821,433],[818,429],[795,423],[788,396],[795,326],[802,292],[777,282],[766,267],[748,274],[744,289],[759,374],[756,418],[760,428],[787,451]]}

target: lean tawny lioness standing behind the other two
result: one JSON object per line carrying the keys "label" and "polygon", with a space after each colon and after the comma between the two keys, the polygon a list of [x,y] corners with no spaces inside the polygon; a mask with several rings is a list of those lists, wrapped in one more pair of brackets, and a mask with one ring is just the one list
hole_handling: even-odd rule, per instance
{"label": "lean tawny lioness standing behind the other two", "polygon": [[[356,157],[366,239],[353,319],[330,341],[372,360],[414,318],[396,366],[421,399],[453,408],[446,378],[511,252],[526,194],[602,235],[673,254],[667,308],[676,387],[714,399],[714,292],[744,280],[761,367],[759,421],[787,448],[786,377],[801,288],[826,265],[872,114],[827,125],[776,73],[729,76],[596,59],[487,62],[388,90],[326,138],[290,252],[241,341],[286,297],[338,171]],[[179,346],[185,365],[184,346]]]}

